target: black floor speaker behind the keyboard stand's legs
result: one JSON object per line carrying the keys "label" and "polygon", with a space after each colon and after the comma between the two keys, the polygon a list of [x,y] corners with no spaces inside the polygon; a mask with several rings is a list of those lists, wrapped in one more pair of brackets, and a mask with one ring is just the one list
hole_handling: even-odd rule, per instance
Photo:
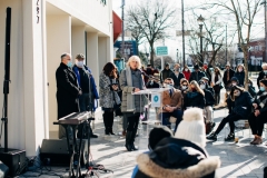
{"label": "black floor speaker behind the keyboard stand's legs", "polygon": [[[77,141],[79,146],[79,140]],[[86,140],[81,142],[81,167],[86,164],[85,152]],[[40,149],[40,159],[42,164],[49,166],[69,166],[70,155],[68,151],[68,145],[66,139],[43,139]]]}

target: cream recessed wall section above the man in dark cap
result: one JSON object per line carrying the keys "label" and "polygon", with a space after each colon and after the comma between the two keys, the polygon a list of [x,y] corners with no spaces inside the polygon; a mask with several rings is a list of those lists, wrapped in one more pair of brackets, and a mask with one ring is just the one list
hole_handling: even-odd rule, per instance
{"label": "cream recessed wall section above the man in dark cap", "polygon": [[75,58],[78,53],[86,55],[86,28],[82,26],[71,27],[71,53]]}

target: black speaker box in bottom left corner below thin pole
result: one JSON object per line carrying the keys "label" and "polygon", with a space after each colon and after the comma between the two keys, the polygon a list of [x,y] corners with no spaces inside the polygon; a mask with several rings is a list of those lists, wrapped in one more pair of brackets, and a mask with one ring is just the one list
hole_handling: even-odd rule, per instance
{"label": "black speaker box in bottom left corner below thin pole", "polygon": [[0,148],[0,160],[9,167],[8,175],[11,177],[20,175],[27,166],[24,150],[9,148],[8,151],[4,151],[3,148]]}

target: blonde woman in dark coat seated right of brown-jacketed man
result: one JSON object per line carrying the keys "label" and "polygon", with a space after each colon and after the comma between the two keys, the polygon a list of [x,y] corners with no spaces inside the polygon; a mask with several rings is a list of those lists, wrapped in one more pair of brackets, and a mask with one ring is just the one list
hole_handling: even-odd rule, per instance
{"label": "blonde woman in dark coat seated right of brown-jacketed man", "polygon": [[196,80],[189,85],[189,89],[184,98],[184,108],[205,108],[205,92]]}

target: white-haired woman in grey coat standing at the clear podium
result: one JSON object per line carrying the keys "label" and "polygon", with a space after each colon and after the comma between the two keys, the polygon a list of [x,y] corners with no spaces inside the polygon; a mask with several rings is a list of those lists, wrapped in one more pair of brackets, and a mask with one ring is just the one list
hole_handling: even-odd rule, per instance
{"label": "white-haired woman in grey coat standing at the clear podium", "polygon": [[145,96],[132,95],[145,89],[141,62],[138,56],[132,56],[127,67],[120,75],[120,87],[122,90],[121,111],[127,117],[126,148],[128,151],[137,150],[135,138],[137,134],[140,113],[144,112]]}

